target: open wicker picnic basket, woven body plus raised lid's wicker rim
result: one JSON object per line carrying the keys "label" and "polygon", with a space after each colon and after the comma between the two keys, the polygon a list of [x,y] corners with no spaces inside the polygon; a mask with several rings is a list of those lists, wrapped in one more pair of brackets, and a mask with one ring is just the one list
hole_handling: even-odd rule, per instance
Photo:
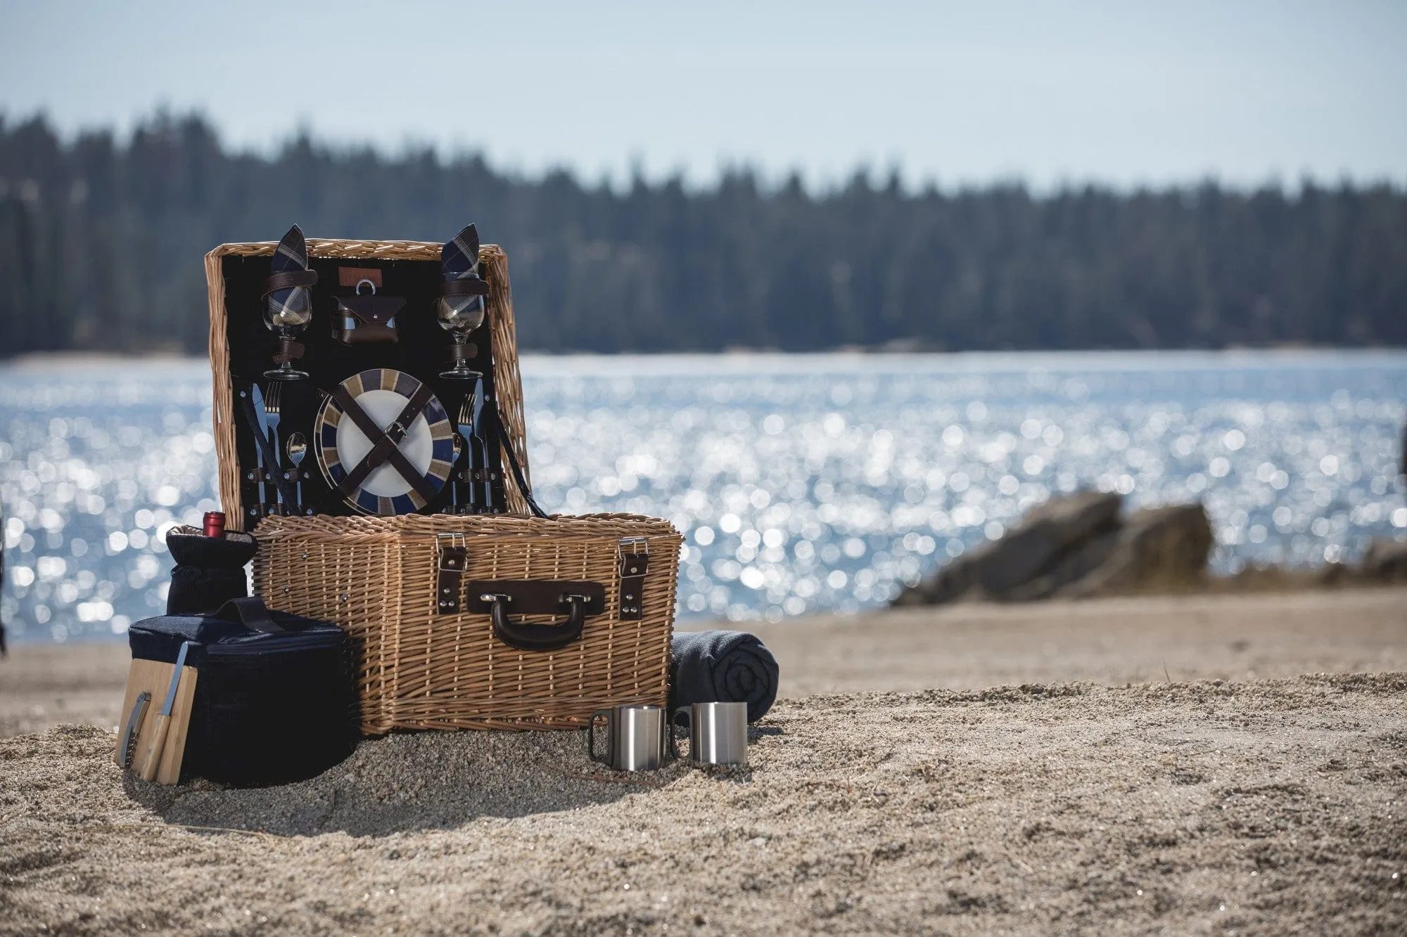
{"label": "open wicker picnic basket, woven body plus raised lid's wicker rim", "polygon": [[[364,263],[436,260],[440,250],[424,242],[308,239],[307,246],[314,260]],[[227,279],[248,266],[228,266],[229,257],[273,249],[224,245],[205,259],[221,499],[231,526],[248,519],[259,537],[255,591],[266,604],[335,622],[352,636],[362,730],[567,729],[619,703],[664,705],[682,537],[657,518],[532,516],[508,262],[497,246],[481,248],[480,257],[490,284],[498,442],[516,461],[516,485],[502,488],[507,514],[248,511],[252,445],[235,394],[236,384],[256,380],[255,362],[267,353],[248,346],[267,336],[246,328],[255,315],[249,294],[227,287]],[[424,349],[426,360],[438,353]],[[231,360],[241,362],[239,373]]]}

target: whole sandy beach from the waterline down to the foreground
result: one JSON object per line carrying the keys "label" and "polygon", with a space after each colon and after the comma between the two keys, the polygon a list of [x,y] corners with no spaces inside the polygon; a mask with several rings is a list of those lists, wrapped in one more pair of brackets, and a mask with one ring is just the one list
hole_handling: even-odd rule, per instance
{"label": "whole sandy beach from the waterline down to the foreground", "polygon": [[[1400,933],[1407,589],[758,627],[747,768],[364,741],[286,788],[111,764],[122,646],[0,664],[0,933]],[[86,723],[86,725],[84,725]]]}

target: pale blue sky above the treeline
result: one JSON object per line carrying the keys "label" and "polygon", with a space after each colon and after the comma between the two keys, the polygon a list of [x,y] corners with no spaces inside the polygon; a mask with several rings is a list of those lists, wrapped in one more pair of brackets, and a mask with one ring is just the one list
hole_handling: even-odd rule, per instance
{"label": "pale blue sky above the treeline", "polygon": [[6,3],[0,113],[708,183],[1407,180],[1407,1]]}

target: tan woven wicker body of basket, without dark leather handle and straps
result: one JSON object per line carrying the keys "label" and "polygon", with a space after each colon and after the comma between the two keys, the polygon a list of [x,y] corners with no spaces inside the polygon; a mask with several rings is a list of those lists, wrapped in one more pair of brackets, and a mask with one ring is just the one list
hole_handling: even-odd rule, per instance
{"label": "tan woven wicker body of basket, without dark leather handle and straps", "polygon": [[[580,640],[521,651],[488,615],[438,615],[438,535],[460,535],[464,581],[587,580],[605,585],[606,613]],[[644,618],[620,620],[620,542],[649,550]],[[664,705],[682,537],[637,515],[549,519],[404,515],[266,518],[255,591],[270,608],[336,622],[359,651],[362,730],[568,729],[618,703]],[[553,622],[550,616],[526,620]]]}

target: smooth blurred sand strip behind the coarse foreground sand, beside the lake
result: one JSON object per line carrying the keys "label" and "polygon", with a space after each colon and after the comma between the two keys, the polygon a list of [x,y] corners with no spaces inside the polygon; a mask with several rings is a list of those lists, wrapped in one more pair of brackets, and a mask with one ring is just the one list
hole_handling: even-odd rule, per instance
{"label": "smooth blurred sand strip behind the coarse foreground sand, beside the lake", "polygon": [[[718,627],[761,636],[784,698],[1407,671],[1404,588],[954,605]],[[13,649],[0,661],[0,737],[115,726],[129,660],[125,643]]]}

